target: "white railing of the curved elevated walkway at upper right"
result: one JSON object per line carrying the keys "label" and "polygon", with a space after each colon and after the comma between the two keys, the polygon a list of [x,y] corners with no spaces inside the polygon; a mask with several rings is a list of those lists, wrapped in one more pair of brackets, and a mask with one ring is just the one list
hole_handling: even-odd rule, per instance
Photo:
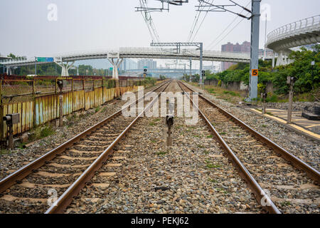
{"label": "white railing of the curved elevated walkway at upper right", "polygon": [[320,15],[312,16],[307,19],[295,21],[290,24],[286,24],[280,28],[270,32],[267,36],[267,44],[279,41],[287,36],[292,36],[306,31],[314,31],[320,29]]}

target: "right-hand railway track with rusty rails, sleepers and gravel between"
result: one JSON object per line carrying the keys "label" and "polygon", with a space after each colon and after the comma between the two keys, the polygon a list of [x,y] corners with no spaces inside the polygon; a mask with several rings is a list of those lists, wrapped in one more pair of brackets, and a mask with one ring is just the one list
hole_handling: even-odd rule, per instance
{"label": "right-hand railway track with rusty rails, sleepers and gravel between", "polygon": [[[183,83],[178,84],[181,90],[193,92]],[[308,213],[319,208],[319,171],[202,95],[198,110],[257,202],[268,212]]]}

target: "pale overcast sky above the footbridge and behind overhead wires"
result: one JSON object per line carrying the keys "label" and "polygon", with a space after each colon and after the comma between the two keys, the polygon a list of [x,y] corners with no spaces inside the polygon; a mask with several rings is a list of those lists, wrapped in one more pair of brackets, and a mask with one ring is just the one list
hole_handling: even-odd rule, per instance
{"label": "pale overcast sky above the footbridge and behind overhead wires", "polygon": [[[250,2],[235,1],[242,5]],[[151,5],[156,1],[148,2]],[[218,2],[227,3],[228,0]],[[49,4],[58,7],[57,21],[48,21]],[[187,41],[197,4],[198,1],[189,0],[183,6],[171,6],[169,13],[151,14],[161,42]],[[0,53],[28,57],[52,56],[73,51],[149,46],[151,37],[148,28],[142,15],[135,12],[135,6],[139,6],[138,0],[1,0]],[[270,9],[268,33],[284,24],[320,13],[319,0],[262,0],[262,6],[262,11]],[[238,7],[233,10],[241,11]],[[205,14],[201,13],[198,24]],[[243,20],[225,36],[241,18],[220,35],[234,19],[235,15],[230,13],[208,13],[194,41],[203,42],[205,48],[212,50],[220,50],[221,44],[228,41],[250,41],[250,21],[247,20]],[[261,48],[264,43],[265,21],[261,21]]]}

